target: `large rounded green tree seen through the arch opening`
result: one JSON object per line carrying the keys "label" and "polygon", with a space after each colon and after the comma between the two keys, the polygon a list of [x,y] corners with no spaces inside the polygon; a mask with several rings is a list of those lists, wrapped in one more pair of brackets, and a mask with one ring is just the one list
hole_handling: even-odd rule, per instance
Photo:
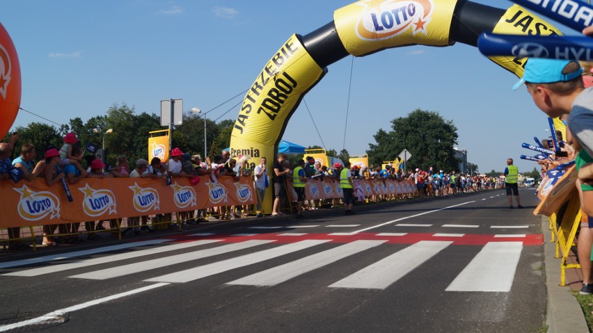
{"label": "large rounded green tree seen through the arch opening", "polygon": [[459,165],[453,150],[457,138],[457,127],[452,120],[417,108],[406,117],[392,120],[391,131],[377,131],[376,144],[369,144],[367,150],[369,163],[380,165],[382,161],[393,161],[407,149],[411,159],[406,168],[455,170]]}

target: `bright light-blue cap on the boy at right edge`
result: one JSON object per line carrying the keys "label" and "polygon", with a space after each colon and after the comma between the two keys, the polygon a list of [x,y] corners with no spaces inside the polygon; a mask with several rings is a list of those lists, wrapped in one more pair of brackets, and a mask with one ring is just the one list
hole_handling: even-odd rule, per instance
{"label": "bright light-blue cap on the boy at right edge", "polygon": [[529,83],[554,83],[566,82],[575,79],[583,74],[583,68],[569,73],[562,74],[564,67],[566,67],[573,60],[558,60],[546,58],[529,58],[525,64],[525,72],[523,72],[523,79],[515,83],[513,90],[519,89],[525,82]]}

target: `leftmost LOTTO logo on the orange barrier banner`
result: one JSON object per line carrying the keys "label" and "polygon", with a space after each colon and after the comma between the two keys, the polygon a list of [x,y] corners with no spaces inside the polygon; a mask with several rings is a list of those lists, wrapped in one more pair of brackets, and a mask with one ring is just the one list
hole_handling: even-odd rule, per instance
{"label": "leftmost LOTTO logo on the orange barrier banner", "polygon": [[20,194],[17,209],[21,218],[28,221],[41,220],[46,216],[49,216],[50,220],[60,218],[60,201],[53,193],[34,192],[26,185],[13,189]]}

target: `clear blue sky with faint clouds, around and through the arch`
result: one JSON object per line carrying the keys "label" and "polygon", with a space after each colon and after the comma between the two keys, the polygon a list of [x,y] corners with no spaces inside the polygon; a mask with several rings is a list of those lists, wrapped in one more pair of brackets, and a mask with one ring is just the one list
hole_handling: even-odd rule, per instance
{"label": "clear blue sky with faint clouds, around and through the arch", "polygon": [[[17,49],[27,111],[67,124],[103,115],[113,104],[159,115],[161,99],[180,98],[184,111],[207,112],[238,96],[207,114],[220,121],[235,120],[242,92],[293,33],[315,31],[351,2],[19,0],[3,1],[0,23]],[[420,108],[454,122],[457,147],[481,172],[504,170],[508,157],[528,172],[536,163],[519,156],[535,152],[521,143],[549,136],[527,90],[512,90],[517,77],[466,44],[349,56],[328,70],[304,98],[308,108],[301,103],[288,122],[284,140],[365,154],[379,129],[390,131],[391,120]],[[30,122],[47,121],[21,111],[13,129]]]}

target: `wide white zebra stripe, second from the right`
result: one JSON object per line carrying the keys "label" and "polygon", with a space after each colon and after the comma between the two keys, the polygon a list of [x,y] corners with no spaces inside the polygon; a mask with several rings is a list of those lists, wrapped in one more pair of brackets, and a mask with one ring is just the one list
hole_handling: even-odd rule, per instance
{"label": "wide white zebra stripe, second from the right", "polygon": [[450,241],[420,241],[341,279],[331,288],[386,289],[448,247]]}

